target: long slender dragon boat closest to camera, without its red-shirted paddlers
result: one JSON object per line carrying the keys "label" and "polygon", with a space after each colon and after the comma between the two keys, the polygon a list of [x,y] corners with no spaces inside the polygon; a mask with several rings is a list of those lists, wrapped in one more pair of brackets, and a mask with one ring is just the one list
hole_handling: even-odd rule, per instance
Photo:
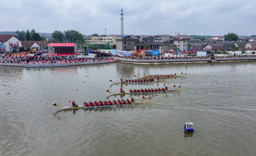
{"label": "long slender dragon boat closest to camera, without its red-shirted paddlers", "polygon": [[[107,108],[107,107],[125,107],[125,106],[131,106],[131,105],[138,105],[138,104],[145,104],[145,103],[147,103],[148,101],[150,101],[151,100],[151,97],[149,97],[149,99],[148,100],[146,100],[146,101],[136,101],[136,102],[134,102],[134,103],[129,103],[129,102],[127,102],[127,103],[124,103],[124,101],[126,101],[126,100],[122,100],[122,104],[119,104],[119,103],[117,103],[117,104],[109,104],[109,103],[107,103],[107,104],[103,104],[103,105],[95,105],[95,104],[93,104],[93,105],[86,105],[86,103],[84,103],[83,105],[74,105],[74,106],[67,106],[66,104],[64,104],[63,106],[59,106],[59,105],[57,105],[56,103],[52,103],[52,106],[56,106],[56,107],[59,107],[59,108],[71,108],[71,109],[78,109],[78,108],[84,108],[84,109],[89,109],[89,108]],[[118,101],[118,100],[117,100]]]}

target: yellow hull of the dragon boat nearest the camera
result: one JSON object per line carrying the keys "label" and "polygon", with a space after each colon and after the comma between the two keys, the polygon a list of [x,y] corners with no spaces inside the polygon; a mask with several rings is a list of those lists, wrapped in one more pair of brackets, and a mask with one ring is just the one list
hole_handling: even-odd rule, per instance
{"label": "yellow hull of the dragon boat nearest the camera", "polygon": [[92,109],[92,108],[108,108],[108,107],[124,107],[124,106],[131,106],[131,105],[137,105],[137,104],[145,104],[147,103],[148,101],[151,100],[151,97],[149,97],[148,100],[146,101],[136,101],[136,103],[132,103],[132,104],[123,104],[123,105],[104,105],[104,106],[84,106],[84,105],[80,105],[80,106],[77,106],[77,107],[73,107],[73,106],[66,106],[66,105],[63,105],[63,106],[59,106],[57,105],[56,103],[53,103],[52,106],[56,106],[56,107],[59,107],[59,108],[71,108],[71,109],[78,109],[78,108],[84,108],[84,109]]}

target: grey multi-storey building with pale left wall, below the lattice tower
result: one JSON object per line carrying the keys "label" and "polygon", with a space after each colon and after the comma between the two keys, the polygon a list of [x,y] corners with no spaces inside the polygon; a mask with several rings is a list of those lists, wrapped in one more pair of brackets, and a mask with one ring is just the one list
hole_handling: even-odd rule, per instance
{"label": "grey multi-storey building with pale left wall, below the lattice tower", "polygon": [[131,36],[116,39],[116,46],[117,50],[134,50],[134,39],[132,39]]}

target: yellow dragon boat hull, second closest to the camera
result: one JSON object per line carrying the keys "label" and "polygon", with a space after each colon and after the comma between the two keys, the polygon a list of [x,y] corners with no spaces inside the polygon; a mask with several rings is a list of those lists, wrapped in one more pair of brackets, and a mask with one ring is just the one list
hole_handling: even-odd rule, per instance
{"label": "yellow dragon boat hull, second closest to the camera", "polygon": [[[176,86],[174,86],[176,87]],[[177,89],[170,89],[168,90],[167,87],[162,89],[140,89],[140,90],[130,90],[130,91],[120,91],[120,92],[111,92],[109,90],[106,90],[106,92],[109,92],[111,94],[144,94],[144,93],[161,93],[161,92],[171,92],[171,91],[178,91],[180,89],[180,86]]]}

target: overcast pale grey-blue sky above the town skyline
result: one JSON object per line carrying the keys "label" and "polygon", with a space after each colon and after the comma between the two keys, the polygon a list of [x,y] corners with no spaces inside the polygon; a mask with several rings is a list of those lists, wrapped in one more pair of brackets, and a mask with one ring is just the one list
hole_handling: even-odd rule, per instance
{"label": "overcast pale grey-blue sky above the town skyline", "polygon": [[[0,31],[77,30],[83,35],[256,35],[256,1],[1,0]],[[191,33],[186,33],[191,32]]]}

